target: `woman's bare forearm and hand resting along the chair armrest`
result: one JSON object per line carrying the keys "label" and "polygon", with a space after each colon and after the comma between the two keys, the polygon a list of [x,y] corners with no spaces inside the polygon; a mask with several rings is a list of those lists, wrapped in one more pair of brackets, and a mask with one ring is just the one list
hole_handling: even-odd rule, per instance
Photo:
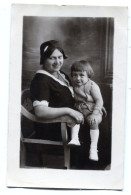
{"label": "woman's bare forearm and hand resting along the chair armrest", "polygon": [[73,119],[76,120],[76,123],[83,123],[83,115],[75,111],[71,108],[52,108],[44,105],[39,105],[34,107],[35,110],[35,115],[38,118],[43,118],[43,119],[54,119],[57,117],[61,117],[64,115],[71,116]]}

